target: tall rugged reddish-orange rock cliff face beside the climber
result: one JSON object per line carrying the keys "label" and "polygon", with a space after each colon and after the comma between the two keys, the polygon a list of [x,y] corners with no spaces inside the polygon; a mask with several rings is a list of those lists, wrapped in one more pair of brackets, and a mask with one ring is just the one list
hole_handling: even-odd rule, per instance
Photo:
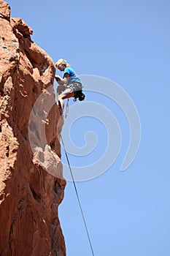
{"label": "tall rugged reddish-orange rock cliff face beside the climber", "polygon": [[63,256],[55,66],[31,34],[0,0],[0,255]]}

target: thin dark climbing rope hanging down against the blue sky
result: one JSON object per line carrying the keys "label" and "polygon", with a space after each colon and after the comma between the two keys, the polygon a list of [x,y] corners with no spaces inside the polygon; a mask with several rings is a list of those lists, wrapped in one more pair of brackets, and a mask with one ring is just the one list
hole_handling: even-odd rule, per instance
{"label": "thin dark climbing rope hanging down against the blue sky", "polygon": [[77,191],[77,187],[76,187],[76,184],[75,184],[75,181],[74,181],[74,176],[73,176],[73,173],[72,173],[72,168],[71,168],[70,163],[69,163],[69,157],[68,157],[68,154],[66,153],[66,148],[65,148],[64,143],[63,143],[62,135],[61,135],[61,142],[63,144],[63,149],[64,149],[65,154],[66,154],[66,160],[68,162],[69,170],[70,170],[70,173],[71,173],[71,176],[72,176],[72,181],[73,181],[74,189],[75,189],[75,192],[76,192],[76,195],[77,195],[77,200],[78,200],[78,203],[79,203],[79,206],[80,206],[80,211],[81,211],[81,214],[82,214],[82,219],[83,219],[83,222],[85,224],[85,230],[86,230],[86,233],[87,233],[87,236],[88,236],[88,241],[89,241],[89,244],[90,244],[90,249],[91,249],[92,255],[94,256],[93,247],[92,247],[92,244],[91,244],[91,241],[90,241],[90,236],[89,236],[89,233],[88,233],[88,226],[87,226],[87,224],[85,222],[85,216],[84,216],[83,211],[82,211],[82,206],[81,206],[81,203],[80,203],[80,197],[79,197],[79,194],[78,194],[78,191]]}

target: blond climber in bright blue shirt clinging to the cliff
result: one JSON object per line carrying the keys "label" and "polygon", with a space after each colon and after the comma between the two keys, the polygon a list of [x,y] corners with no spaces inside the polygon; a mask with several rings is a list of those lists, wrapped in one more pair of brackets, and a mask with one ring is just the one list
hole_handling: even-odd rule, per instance
{"label": "blond climber in bright blue shirt clinging to the cliff", "polygon": [[57,104],[63,111],[63,99],[74,97],[74,101],[76,101],[77,98],[82,101],[85,99],[85,94],[82,93],[82,83],[80,78],[65,59],[58,59],[58,61],[55,63],[55,67],[61,72],[63,71],[63,78],[61,78],[59,75],[55,75],[55,80],[58,83]]}

